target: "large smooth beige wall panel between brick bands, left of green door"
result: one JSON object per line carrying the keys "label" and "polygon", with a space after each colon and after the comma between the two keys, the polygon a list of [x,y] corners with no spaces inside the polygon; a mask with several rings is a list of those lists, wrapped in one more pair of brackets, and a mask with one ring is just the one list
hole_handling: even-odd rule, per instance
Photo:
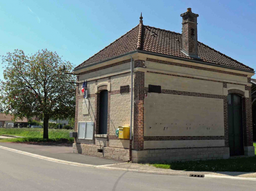
{"label": "large smooth beige wall panel between brick bands, left of green door", "polygon": [[144,112],[144,136],[224,136],[221,98],[148,93]]}

